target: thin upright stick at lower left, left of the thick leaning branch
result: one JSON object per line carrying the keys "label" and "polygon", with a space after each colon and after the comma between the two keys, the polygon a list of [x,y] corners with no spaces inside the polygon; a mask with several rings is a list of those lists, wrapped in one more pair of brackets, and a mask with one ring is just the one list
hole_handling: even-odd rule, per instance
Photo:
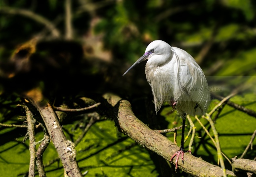
{"label": "thin upright stick at lower left, left of the thick leaning branch", "polygon": [[32,112],[29,108],[26,108],[26,115],[28,121],[28,133],[30,139],[30,168],[29,168],[29,177],[34,177],[34,169],[35,169],[35,137],[34,137],[34,118]]}

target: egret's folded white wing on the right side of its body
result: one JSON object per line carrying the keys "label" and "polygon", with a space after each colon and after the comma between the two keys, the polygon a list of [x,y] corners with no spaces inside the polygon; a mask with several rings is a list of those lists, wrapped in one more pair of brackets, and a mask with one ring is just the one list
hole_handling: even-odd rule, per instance
{"label": "egret's folded white wing on the right side of its body", "polygon": [[202,115],[207,111],[210,101],[208,84],[202,69],[186,51],[174,48],[179,58],[179,88],[182,93],[178,98],[182,108],[190,115]]}

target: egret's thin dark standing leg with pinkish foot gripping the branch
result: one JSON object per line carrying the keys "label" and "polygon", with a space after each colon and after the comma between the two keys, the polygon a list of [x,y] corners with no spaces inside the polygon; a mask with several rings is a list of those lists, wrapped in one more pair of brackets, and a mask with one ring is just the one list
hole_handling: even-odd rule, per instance
{"label": "egret's thin dark standing leg with pinkish foot gripping the branch", "polygon": [[184,153],[189,152],[191,153],[191,150],[184,150],[184,135],[185,135],[185,124],[186,124],[186,117],[182,117],[182,133],[181,133],[181,148],[179,151],[175,152],[175,154],[172,155],[170,162],[172,159],[177,155],[176,161],[175,161],[175,171],[178,169],[178,160],[181,155],[181,161],[184,163]]}

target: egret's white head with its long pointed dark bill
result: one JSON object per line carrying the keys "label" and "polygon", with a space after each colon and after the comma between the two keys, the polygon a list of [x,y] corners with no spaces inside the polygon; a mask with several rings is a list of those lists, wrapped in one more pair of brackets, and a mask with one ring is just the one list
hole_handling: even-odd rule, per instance
{"label": "egret's white head with its long pointed dark bill", "polygon": [[[139,64],[141,61],[144,61],[146,59],[150,59],[153,56],[168,56],[171,54],[171,46],[169,44],[167,44],[164,41],[161,40],[155,40],[153,42],[151,42],[148,47],[146,48],[145,54],[138,59],[126,72],[125,74],[134,66],[136,66],[137,64]],[[125,75],[124,74],[124,75]],[[123,75],[123,76],[124,76]]]}

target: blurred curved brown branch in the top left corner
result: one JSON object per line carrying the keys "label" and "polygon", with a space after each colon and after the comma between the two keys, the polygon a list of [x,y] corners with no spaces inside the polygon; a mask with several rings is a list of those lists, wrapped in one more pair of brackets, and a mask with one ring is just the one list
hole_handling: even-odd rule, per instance
{"label": "blurred curved brown branch in the top left corner", "polygon": [[28,18],[31,18],[32,20],[45,25],[45,27],[47,27],[52,32],[53,36],[55,36],[55,37],[60,36],[60,31],[55,28],[54,24],[52,24],[49,20],[47,20],[43,16],[35,14],[34,12],[32,12],[30,10],[17,9],[17,8],[5,6],[5,7],[0,7],[0,12],[13,14],[13,15],[23,15]]}

